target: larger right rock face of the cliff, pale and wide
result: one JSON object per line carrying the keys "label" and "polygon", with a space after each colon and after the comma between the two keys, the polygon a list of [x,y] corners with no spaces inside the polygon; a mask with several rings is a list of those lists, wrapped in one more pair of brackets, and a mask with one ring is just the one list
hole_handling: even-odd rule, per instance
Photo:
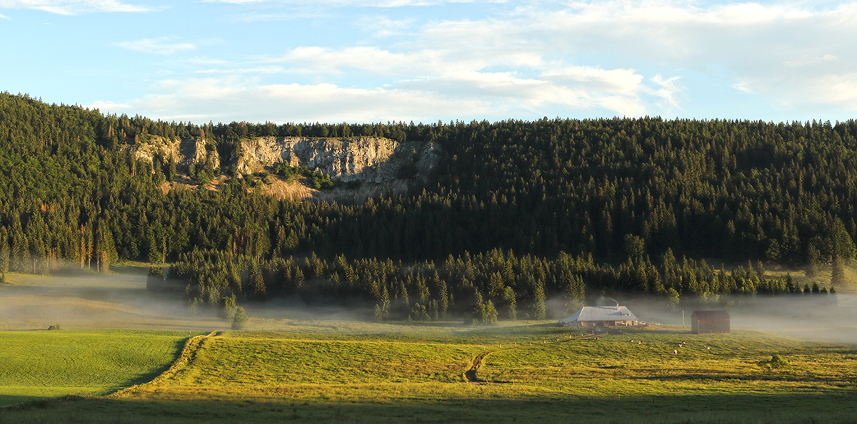
{"label": "larger right rock face of the cliff, pale and wide", "polygon": [[245,140],[232,154],[236,171],[252,174],[275,163],[319,169],[339,181],[383,183],[401,177],[403,167],[428,174],[438,161],[434,143],[398,143],[389,138],[263,137]]}

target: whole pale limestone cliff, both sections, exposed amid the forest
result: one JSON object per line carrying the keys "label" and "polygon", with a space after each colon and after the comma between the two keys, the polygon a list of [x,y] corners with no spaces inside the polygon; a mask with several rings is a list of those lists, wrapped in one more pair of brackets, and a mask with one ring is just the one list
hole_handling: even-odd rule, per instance
{"label": "whole pale limestone cliff, both sections, exposed amid the forest", "polygon": [[[217,149],[204,138],[179,140],[150,136],[146,141],[124,146],[138,160],[152,163],[157,158],[163,164],[173,159],[181,173],[191,164],[199,168],[207,162],[211,162],[214,168],[221,168],[221,165],[231,168],[226,174],[234,174],[238,178],[271,171],[273,165],[281,162],[293,168],[317,169],[330,175],[332,180],[360,184],[343,185],[328,191],[305,187],[303,191],[309,195],[297,197],[355,202],[381,194],[400,193],[407,190],[410,180],[424,180],[440,158],[439,148],[438,144],[431,142],[399,143],[375,137],[261,137],[242,140],[221,163]],[[178,184],[181,185],[181,178]],[[294,184],[300,185],[298,182]],[[288,191],[295,191],[295,187]],[[282,193],[279,196],[294,197]]]}

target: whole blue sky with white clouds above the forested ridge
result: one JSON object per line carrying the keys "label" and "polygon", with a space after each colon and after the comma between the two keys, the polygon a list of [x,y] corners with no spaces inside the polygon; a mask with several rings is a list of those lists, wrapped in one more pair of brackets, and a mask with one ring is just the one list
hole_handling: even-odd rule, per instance
{"label": "whole blue sky with white clouds above the forested ridge", "polygon": [[0,91],[165,121],[847,121],[857,1],[0,0]]}

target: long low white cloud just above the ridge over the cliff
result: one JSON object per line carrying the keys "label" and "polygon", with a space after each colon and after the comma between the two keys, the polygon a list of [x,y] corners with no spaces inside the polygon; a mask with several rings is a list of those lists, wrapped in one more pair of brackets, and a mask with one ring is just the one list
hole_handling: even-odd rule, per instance
{"label": "long low white cloud just above the ridge over the cliff", "polygon": [[430,91],[327,83],[261,85],[238,78],[172,79],[155,88],[156,94],[131,106],[149,116],[195,121],[410,121],[426,115],[478,115],[490,106],[482,100],[462,101]]}

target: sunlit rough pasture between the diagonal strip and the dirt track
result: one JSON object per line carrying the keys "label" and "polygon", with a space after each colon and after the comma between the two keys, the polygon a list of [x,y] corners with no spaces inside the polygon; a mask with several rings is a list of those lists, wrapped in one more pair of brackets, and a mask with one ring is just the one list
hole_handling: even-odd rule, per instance
{"label": "sunlit rough pasture between the diagonal strip and the dirt track", "polygon": [[461,379],[468,351],[462,344],[225,333],[207,339],[192,366],[163,386],[452,383]]}

